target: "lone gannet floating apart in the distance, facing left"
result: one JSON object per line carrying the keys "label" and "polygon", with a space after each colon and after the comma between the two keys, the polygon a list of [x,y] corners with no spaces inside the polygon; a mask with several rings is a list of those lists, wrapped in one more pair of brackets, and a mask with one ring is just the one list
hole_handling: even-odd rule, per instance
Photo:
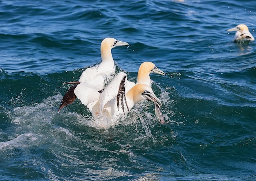
{"label": "lone gannet floating apart in the distance, facing left", "polygon": [[227,31],[236,31],[236,34],[234,36],[234,42],[254,40],[254,37],[249,32],[249,29],[245,24],[239,24],[234,28],[228,29]]}

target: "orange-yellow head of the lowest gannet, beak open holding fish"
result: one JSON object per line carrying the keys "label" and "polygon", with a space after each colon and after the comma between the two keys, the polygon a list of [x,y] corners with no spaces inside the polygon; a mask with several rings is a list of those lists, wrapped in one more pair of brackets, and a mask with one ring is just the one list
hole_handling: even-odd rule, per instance
{"label": "orange-yellow head of the lowest gannet, beak open holding fish", "polygon": [[127,97],[132,96],[133,103],[136,104],[141,100],[152,101],[158,106],[162,106],[161,101],[153,93],[153,90],[150,86],[146,84],[137,84],[130,89],[127,93]]}

